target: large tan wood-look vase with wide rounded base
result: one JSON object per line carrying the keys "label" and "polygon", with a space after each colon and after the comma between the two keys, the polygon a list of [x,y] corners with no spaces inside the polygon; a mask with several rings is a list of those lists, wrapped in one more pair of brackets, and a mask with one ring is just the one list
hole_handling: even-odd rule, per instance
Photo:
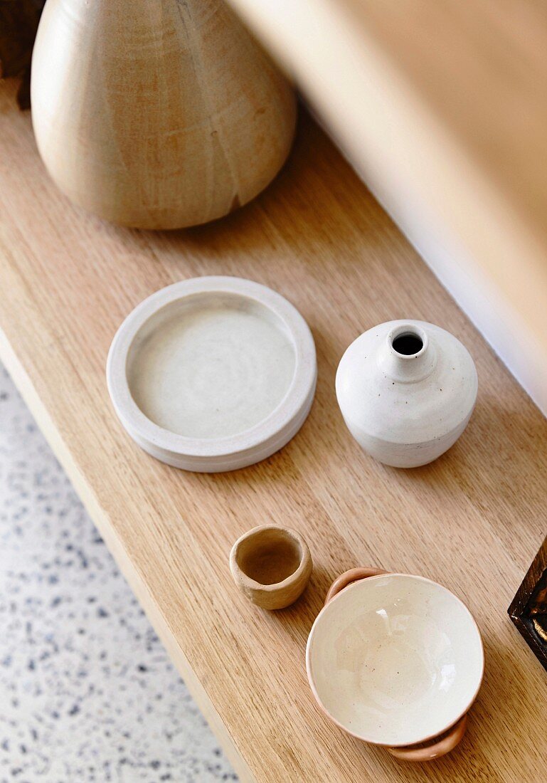
{"label": "large tan wood-look vase with wide rounded base", "polygon": [[32,116],[57,185],[146,229],[226,215],[290,150],[292,88],[221,0],[48,0]]}

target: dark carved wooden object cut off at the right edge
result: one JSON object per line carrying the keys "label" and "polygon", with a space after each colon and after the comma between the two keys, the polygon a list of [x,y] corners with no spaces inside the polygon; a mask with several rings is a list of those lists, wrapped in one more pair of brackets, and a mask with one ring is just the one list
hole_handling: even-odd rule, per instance
{"label": "dark carved wooden object cut off at the right edge", "polygon": [[547,538],[507,611],[534,655],[547,669]]}

